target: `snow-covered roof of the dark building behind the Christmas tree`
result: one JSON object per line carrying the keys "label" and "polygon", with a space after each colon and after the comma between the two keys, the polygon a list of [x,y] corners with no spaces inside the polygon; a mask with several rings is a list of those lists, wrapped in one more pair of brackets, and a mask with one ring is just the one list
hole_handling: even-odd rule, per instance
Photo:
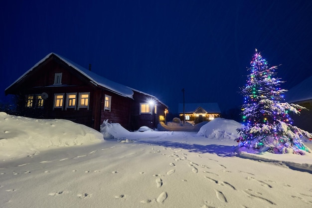
{"label": "snow-covered roof of the dark building behind the Christmas tree", "polygon": [[312,99],[312,76],[285,93],[285,100],[289,103],[310,99]]}

